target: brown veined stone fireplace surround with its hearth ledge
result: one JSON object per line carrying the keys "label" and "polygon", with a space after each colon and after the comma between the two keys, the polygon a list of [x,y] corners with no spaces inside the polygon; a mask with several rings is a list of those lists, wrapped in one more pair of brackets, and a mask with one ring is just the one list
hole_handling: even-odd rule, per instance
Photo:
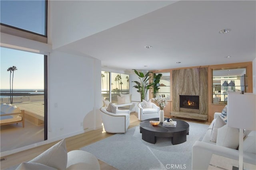
{"label": "brown veined stone fireplace surround with its hearth ledge", "polygon": [[[172,70],[172,116],[207,120],[208,68]],[[180,95],[199,96],[199,109],[180,108]]]}

